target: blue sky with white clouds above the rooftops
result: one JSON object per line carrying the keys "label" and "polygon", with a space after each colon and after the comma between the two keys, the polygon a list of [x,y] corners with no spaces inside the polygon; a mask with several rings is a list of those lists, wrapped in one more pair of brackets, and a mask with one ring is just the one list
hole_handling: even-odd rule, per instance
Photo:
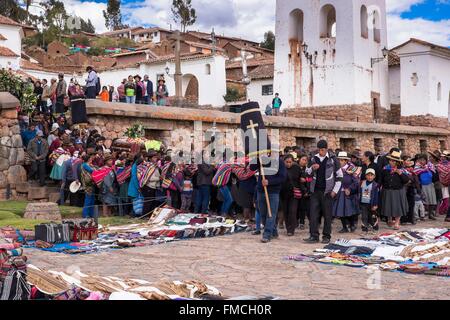
{"label": "blue sky with white clouds above the rooftops", "polygon": [[[97,32],[106,31],[102,10],[107,0],[62,0],[69,13],[89,18]],[[285,0],[291,1],[291,0]],[[191,30],[227,34],[261,41],[275,29],[276,0],[192,0],[197,23]],[[129,25],[175,28],[171,0],[122,0],[122,15]],[[411,37],[450,47],[450,0],[386,0],[389,46]]]}

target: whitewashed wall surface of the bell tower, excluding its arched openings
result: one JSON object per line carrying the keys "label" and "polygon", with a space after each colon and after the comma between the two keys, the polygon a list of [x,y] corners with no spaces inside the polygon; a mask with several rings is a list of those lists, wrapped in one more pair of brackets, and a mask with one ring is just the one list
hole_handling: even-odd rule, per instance
{"label": "whitewashed wall surface of the bell tower, excluding its arched openings", "polygon": [[[320,9],[332,4],[336,9],[336,38],[320,38]],[[369,37],[361,37],[360,9],[380,16],[381,42],[376,43],[369,23]],[[290,13],[303,11],[304,42],[313,58],[310,66],[301,52],[301,81],[294,77],[290,53]],[[385,0],[277,0],[275,87],[288,106],[329,106],[371,103],[371,92],[379,92],[382,107],[389,106],[387,62],[370,65],[370,58],[381,57],[387,45]],[[371,22],[369,14],[368,21]],[[326,50],[326,53],[324,52]],[[333,50],[336,50],[333,53]],[[297,77],[298,79],[298,77]]]}

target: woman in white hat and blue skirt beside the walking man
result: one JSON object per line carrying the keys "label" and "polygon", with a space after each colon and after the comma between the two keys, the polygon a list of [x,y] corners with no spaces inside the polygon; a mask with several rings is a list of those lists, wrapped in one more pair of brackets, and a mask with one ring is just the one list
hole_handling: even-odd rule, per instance
{"label": "woman in white hat and blue skirt beside the walking man", "polygon": [[333,202],[333,217],[341,219],[342,230],[339,233],[355,232],[355,216],[358,215],[359,179],[354,173],[350,155],[341,151],[337,155],[342,172],[342,183]]}

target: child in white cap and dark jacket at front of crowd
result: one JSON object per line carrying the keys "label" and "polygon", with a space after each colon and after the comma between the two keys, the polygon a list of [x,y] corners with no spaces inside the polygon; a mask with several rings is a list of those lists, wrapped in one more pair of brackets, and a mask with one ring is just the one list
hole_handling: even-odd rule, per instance
{"label": "child in white cap and dark jacket at front of crowd", "polygon": [[361,214],[362,231],[378,231],[378,203],[380,190],[378,183],[375,182],[376,172],[374,169],[367,169],[365,180],[361,183]]}

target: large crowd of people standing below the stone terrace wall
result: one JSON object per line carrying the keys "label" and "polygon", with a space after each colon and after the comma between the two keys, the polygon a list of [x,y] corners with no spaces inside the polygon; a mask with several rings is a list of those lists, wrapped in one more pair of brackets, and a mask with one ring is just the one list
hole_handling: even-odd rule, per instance
{"label": "large crowd of people standing below the stone terrace wall", "polygon": [[[22,128],[25,118],[21,115]],[[83,217],[95,217],[96,208],[106,216],[142,216],[167,203],[185,212],[242,215],[255,223],[254,234],[263,234],[264,242],[277,238],[281,228],[293,236],[307,221],[305,241],[318,242],[322,224],[322,241],[328,243],[333,219],[341,221],[340,233],[355,232],[359,216],[364,232],[377,231],[383,219],[398,230],[401,223],[434,220],[437,210],[448,210],[448,151],[439,159],[402,156],[396,148],[384,155],[359,148],[347,153],[330,150],[322,140],[317,153],[286,148],[276,171],[263,178],[243,154],[209,164],[211,155],[204,152],[196,155],[197,165],[172,161],[170,150],[110,150],[96,130],[69,127],[63,115],[53,120],[40,111],[22,138],[30,179],[57,182],[60,204],[69,200],[83,207]]]}

